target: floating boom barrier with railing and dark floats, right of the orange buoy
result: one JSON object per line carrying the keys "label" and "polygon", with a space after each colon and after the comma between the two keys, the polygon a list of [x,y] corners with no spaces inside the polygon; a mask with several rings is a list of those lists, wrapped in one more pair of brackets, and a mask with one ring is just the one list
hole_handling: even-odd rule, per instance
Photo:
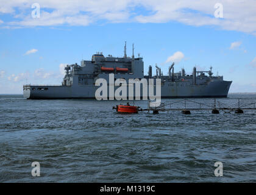
{"label": "floating boom barrier with railing and dark floats, right of the orange buoy", "polygon": [[181,110],[183,114],[190,115],[190,110],[212,110],[213,114],[219,114],[219,110],[225,113],[235,112],[243,113],[243,110],[256,110],[255,99],[181,99],[178,101],[162,102],[158,107],[151,107],[148,101],[148,112],[152,111],[169,112]]}

